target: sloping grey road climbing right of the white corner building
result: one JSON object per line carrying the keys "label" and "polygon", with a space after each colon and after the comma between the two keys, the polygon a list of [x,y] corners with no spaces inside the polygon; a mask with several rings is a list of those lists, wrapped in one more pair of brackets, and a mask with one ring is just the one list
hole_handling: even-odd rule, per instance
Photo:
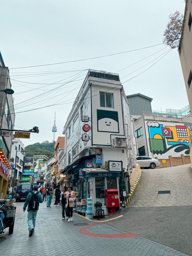
{"label": "sloping grey road climbing right of the white corner building", "polygon": [[[171,194],[158,194],[159,190],[170,190]],[[109,224],[192,255],[190,164],[142,169],[137,191],[121,213],[121,219]]]}

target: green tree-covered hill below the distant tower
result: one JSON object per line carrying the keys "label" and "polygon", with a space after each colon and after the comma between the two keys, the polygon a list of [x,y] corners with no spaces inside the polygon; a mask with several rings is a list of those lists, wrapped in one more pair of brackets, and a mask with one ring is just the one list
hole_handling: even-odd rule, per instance
{"label": "green tree-covered hill below the distant tower", "polygon": [[46,155],[48,158],[51,158],[54,154],[55,142],[50,142],[48,140],[43,141],[42,143],[34,143],[25,147],[26,154],[34,155]]}

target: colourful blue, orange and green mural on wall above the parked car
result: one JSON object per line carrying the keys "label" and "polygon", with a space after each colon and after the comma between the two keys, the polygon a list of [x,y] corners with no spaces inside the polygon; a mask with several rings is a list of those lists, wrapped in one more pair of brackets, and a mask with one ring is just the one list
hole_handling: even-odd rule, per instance
{"label": "colourful blue, orange and green mural on wall above the parked car", "polygon": [[[178,156],[189,155],[190,123],[145,121],[148,150],[153,154]],[[172,152],[172,153],[171,153]],[[166,156],[168,156],[166,154]]]}

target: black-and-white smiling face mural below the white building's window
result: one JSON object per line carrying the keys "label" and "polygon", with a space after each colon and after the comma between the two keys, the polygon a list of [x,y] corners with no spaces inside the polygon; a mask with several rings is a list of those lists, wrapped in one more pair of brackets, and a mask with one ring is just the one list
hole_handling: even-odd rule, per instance
{"label": "black-and-white smiling face mural below the white building's window", "polygon": [[97,110],[98,131],[119,133],[117,111]]}

